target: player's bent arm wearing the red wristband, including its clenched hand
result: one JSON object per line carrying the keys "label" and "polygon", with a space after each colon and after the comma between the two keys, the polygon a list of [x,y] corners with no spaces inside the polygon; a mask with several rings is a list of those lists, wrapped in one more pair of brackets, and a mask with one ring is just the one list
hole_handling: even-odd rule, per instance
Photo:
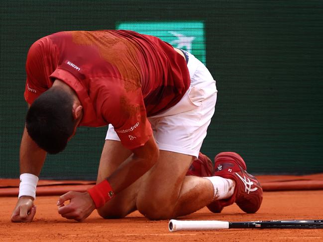
{"label": "player's bent arm wearing the red wristband, including its clenched hand", "polygon": [[[94,209],[103,206],[114,194],[122,191],[147,172],[158,160],[159,149],[153,137],[142,147],[136,148],[130,156],[103,182],[88,192],[70,191],[60,196],[58,213],[67,219],[83,221]],[[64,202],[70,200],[65,205]]]}

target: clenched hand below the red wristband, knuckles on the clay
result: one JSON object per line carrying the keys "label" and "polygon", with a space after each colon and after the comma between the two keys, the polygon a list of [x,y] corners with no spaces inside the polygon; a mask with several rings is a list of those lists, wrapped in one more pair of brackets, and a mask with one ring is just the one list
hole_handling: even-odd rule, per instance
{"label": "clenched hand below the red wristband, knuckles on the clay", "polygon": [[[64,204],[70,200],[69,204]],[[95,204],[88,192],[69,191],[60,196],[58,202],[58,213],[67,219],[82,222],[95,210]]]}

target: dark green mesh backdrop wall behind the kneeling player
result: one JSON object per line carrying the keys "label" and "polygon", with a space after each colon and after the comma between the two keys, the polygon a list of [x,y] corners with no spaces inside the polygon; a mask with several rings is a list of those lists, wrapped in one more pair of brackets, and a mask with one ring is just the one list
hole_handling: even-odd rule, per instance
{"label": "dark green mesh backdrop wall behind the kneeling player", "polygon": [[[322,0],[1,0],[0,178],[19,175],[29,46],[58,31],[136,22],[174,45],[176,34],[198,33],[192,52],[218,88],[202,152],[238,152],[255,174],[323,172],[322,16]],[[63,153],[47,156],[41,177],[94,179],[105,133],[80,128]]]}

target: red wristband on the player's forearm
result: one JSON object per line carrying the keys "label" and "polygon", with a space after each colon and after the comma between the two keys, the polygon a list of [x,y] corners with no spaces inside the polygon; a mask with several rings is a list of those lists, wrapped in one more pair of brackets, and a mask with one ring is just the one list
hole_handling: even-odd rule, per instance
{"label": "red wristband on the player's forearm", "polygon": [[107,179],[90,188],[88,193],[92,197],[96,208],[102,207],[108,200],[114,197],[114,192]]}

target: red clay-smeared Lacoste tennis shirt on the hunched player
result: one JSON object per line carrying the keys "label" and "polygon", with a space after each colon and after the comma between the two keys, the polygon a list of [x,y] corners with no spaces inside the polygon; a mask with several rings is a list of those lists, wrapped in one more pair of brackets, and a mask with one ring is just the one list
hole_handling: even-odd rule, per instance
{"label": "red clay-smeared Lacoste tennis shirt on the hunched player", "polygon": [[128,149],[152,135],[147,117],[175,105],[190,85],[185,59],[160,39],[126,30],[59,32],[36,41],[26,61],[29,104],[59,79],[75,90],[81,126],[112,124]]}

